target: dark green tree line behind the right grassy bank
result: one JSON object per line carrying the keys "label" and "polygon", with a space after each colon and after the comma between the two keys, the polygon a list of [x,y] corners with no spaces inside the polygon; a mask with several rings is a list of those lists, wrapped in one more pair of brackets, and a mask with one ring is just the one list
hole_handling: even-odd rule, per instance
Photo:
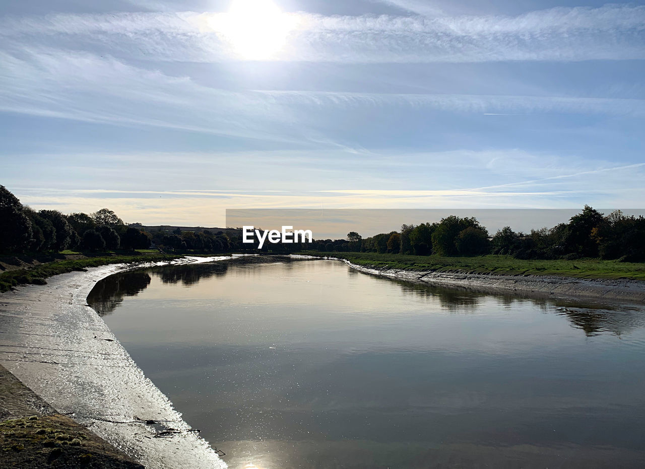
{"label": "dark green tree line behind the right grassy bank", "polygon": [[447,216],[439,222],[402,225],[391,231],[362,238],[348,233],[344,240],[317,240],[318,251],[415,254],[428,256],[475,256],[506,254],[519,259],[620,259],[645,261],[645,218],[621,211],[604,215],[584,206],[581,213],[552,228],[529,233],[506,226],[490,236],[476,218]]}

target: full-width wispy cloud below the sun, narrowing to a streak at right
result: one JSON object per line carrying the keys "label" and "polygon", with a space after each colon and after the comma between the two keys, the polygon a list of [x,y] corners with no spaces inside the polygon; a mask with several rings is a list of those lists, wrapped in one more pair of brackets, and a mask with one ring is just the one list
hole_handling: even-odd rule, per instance
{"label": "full-width wispy cloud below the sun, narrowing to a streak at right", "polygon": [[[0,51],[0,110],[315,144],[354,152],[317,130],[346,108],[415,106],[461,113],[580,113],[645,116],[645,100],[590,97],[232,91],[145,70],[113,57],[25,48]],[[361,150],[357,150],[361,153]]]}

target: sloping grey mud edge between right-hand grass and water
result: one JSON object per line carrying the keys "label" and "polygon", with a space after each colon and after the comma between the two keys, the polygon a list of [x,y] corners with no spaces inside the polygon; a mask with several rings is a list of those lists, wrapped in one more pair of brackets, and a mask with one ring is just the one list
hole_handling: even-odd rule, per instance
{"label": "sloping grey mud edge between right-hand grass and water", "polygon": [[410,282],[428,283],[428,285],[456,287],[484,292],[502,292],[506,294],[515,292],[537,296],[597,298],[618,302],[645,303],[645,282],[640,282],[639,280],[588,280],[559,276],[519,276],[373,269],[356,265],[344,259],[334,258],[333,256],[328,256],[326,259],[340,260],[361,272],[408,280]]}

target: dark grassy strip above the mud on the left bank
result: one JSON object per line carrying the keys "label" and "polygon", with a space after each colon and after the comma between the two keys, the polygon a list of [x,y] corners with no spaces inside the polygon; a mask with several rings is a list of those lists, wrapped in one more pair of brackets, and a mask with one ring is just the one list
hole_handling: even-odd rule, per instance
{"label": "dark grassy strip above the mud on the left bank", "polygon": [[84,271],[88,267],[99,267],[110,263],[151,262],[176,259],[177,254],[126,254],[88,257],[82,259],[55,260],[35,265],[29,269],[16,269],[0,274],[0,292],[21,284],[45,285],[46,278],[72,271]]}

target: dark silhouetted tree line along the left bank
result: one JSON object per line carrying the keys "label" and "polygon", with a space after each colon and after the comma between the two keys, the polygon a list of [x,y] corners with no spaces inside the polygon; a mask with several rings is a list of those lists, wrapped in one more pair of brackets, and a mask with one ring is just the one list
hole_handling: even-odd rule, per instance
{"label": "dark silhouetted tree line along the left bank", "polygon": [[[126,225],[114,211],[64,215],[57,210],[23,206],[5,186],[0,186],[0,253],[61,252],[65,249],[114,251],[148,249],[155,245],[169,252],[226,252],[239,249],[239,240],[223,232],[158,230],[148,233]],[[139,224],[139,226],[141,226]]]}

